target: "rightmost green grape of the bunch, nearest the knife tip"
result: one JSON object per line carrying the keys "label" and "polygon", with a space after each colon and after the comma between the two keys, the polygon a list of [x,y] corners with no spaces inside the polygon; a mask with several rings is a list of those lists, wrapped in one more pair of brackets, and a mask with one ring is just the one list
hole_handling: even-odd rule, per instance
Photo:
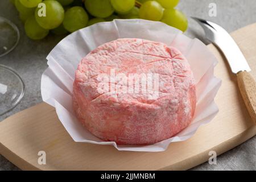
{"label": "rightmost green grape of the bunch, nearest the knife tip", "polygon": [[178,28],[183,32],[188,28],[188,20],[186,16],[181,13],[181,11],[176,9],[164,10],[162,22],[172,27]]}

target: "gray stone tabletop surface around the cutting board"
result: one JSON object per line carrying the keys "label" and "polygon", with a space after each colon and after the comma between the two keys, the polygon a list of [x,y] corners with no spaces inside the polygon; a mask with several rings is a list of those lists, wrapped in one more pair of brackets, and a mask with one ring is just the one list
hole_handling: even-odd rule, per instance
{"label": "gray stone tabletop surface around the cutting board", "polygon": [[[209,3],[216,3],[217,17],[209,17]],[[229,32],[237,30],[256,21],[256,3],[252,0],[181,0],[178,6],[187,16],[197,16],[212,20],[226,28]],[[15,109],[0,116],[0,121],[42,102],[40,96],[40,78],[47,68],[46,56],[62,39],[59,36],[48,36],[41,41],[32,41],[24,33],[23,24],[18,13],[8,0],[0,1],[0,16],[14,22],[20,30],[20,42],[14,51],[0,57],[0,64],[16,69],[26,84],[23,100]],[[256,33],[256,32],[255,32]],[[201,28],[189,19],[189,29],[185,33],[191,38],[201,37]],[[0,131],[1,132],[1,131]],[[0,155],[0,170],[17,170],[7,159]],[[201,164],[192,170],[255,170],[256,169],[256,137],[240,146],[218,156],[217,165]]]}

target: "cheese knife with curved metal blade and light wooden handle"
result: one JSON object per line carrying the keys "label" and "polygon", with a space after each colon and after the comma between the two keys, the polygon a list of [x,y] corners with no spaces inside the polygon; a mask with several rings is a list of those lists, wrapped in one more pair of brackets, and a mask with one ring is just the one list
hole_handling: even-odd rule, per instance
{"label": "cheese knife with curved metal blade and light wooden handle", "polygon": [[229,33],[218,24],[200,18],[191,18],[203,27],[205,38],[224,53],[232,73],[237,75],[238,87],[247,110],[256,123],[256,82],[249,73],[251,69],[240,48]]}

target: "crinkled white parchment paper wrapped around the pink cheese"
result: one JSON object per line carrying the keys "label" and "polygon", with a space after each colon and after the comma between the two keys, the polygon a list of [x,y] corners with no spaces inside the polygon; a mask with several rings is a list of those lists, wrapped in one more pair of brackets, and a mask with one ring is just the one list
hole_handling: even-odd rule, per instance
{"label": "crinkled white parchment paper wrapped around the pink cheese", "polygon": [[[77,65],[94,48],[118,38],[141,38],[176,47],[188,59],[196,80],[195,117],[187,128],[175,137],[145,146],[117,145],[105,142],[87,131],[77,120],[72,108],[73,81]],[[191,138],[196,130],[210,122],[218,112],[214,97],[221,80],[214,77],[217,60],[197,39],[190,39],[176,28],[161,22],[142,19],[114,20],[83,28],[61,40],[47,56],[48,68],[43,73],[41,91],[44,102],[56,108],[56,113],[75,142],[113,145],[121,151],[159,152],[171,142]]]}

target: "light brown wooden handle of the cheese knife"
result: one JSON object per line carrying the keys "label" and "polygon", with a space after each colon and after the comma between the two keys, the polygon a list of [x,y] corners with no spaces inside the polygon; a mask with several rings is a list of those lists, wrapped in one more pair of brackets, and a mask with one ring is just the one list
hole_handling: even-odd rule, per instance
{"label": "light brown wooden handle of the cheese knife", "polygon": [[247,110],[256,124],[256,82],[248,72],[237,73],[237,82]]}

